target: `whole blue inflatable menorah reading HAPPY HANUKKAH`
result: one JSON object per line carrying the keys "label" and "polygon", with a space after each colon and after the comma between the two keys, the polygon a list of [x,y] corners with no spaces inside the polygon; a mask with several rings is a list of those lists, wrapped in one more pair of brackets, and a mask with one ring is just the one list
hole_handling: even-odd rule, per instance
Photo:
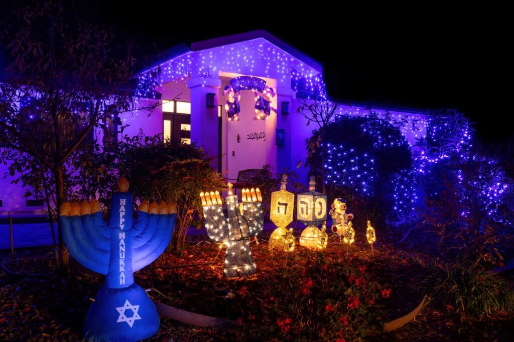
{"label": "whole blue inflatable menorah reading HAPPY HANUKKAH", "polygon": [[159,329],[157,310],[133,273],[152,263],[168,246],[175,225],[176,206],[143,201],[132,219],[132,194],[121,177],[111,200],[108,225],[98,200],[64,203],[59,220],[70,255],[84,267],[105,274],[91,304],[84,336],[98,341],[136,341]]}

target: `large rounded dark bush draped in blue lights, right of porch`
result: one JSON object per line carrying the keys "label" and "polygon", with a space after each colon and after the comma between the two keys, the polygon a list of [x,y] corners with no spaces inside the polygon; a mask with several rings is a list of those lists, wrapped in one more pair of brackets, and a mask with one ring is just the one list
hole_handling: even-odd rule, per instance
{"label": "large rounded dark bush draped in blue lights, right of porch", "polygon": [[[370,112],[344,115],[325,126],[326,157],[312,149],[321,129],[306,141],[306,165],[311,170],[327,167],[328,200],[343,197],[358,219],[381,222],[386,216],[412,207],[411,148],[398,126],[401,122]],[[396,207],[396,208],[395,208]],[[396,210],[395,210],[396,209]],[[356,218],[357,219],[357,218]]]}

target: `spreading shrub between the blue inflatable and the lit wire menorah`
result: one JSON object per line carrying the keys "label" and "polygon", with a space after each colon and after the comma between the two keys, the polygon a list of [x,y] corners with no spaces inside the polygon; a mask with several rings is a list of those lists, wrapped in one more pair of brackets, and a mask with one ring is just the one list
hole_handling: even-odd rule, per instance
{"label": "spreading shrub between the blue inflatable and the lit wire menorah", "polygon": [[160,136],[134,137],[120,144],[115,169],[130,180],[136,199],[172,201],[177,205],[177,223],[172,246],[180,250],[191,225],[201,225],[203,213],[199,193],[221,191],[225,179],[212,168],[212,157],[196,145],[166,142]]}

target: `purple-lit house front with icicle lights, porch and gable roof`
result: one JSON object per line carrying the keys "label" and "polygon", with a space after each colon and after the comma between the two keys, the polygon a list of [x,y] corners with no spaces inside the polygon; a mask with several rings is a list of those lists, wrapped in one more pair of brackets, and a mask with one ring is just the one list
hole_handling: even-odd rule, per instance
{"label": "purple-lit house front with icicle lights, porch and gable roof", "polygon": [[[143,109],[123,114],[123,124],[130,125],[124,134],[195,142],[215,157],[213,167],[227,178],[270,165],[277,173],[295,171],[307,183],[305,140],[317,127],[307,125],[297,108],[304,99],[324,95],[322,73],[318,62],[266,31],[178,46],[141,71],[139,107],[157,106],[150,116]],[[369,110],[344,104],[337,114]],[[411,145],[426,134],[424,113],[372,110],[407,120],[402,133]],[[0,167],[0,173],[6,171]],[[11,179],[0,180],[0,213],[42,212],[43,203],[24,198]]]}

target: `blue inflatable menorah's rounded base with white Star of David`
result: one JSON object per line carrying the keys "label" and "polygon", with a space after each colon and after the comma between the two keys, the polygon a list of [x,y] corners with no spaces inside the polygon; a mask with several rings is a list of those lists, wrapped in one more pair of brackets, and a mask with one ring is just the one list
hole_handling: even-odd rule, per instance
{"label": "blue inflatable menorah's rounded base with white Star of David", "polygon": [[137,284],[121,289],[105,285],[87,312],[84,337],[94,341],[138,341],[159,329],[157,309]]}

